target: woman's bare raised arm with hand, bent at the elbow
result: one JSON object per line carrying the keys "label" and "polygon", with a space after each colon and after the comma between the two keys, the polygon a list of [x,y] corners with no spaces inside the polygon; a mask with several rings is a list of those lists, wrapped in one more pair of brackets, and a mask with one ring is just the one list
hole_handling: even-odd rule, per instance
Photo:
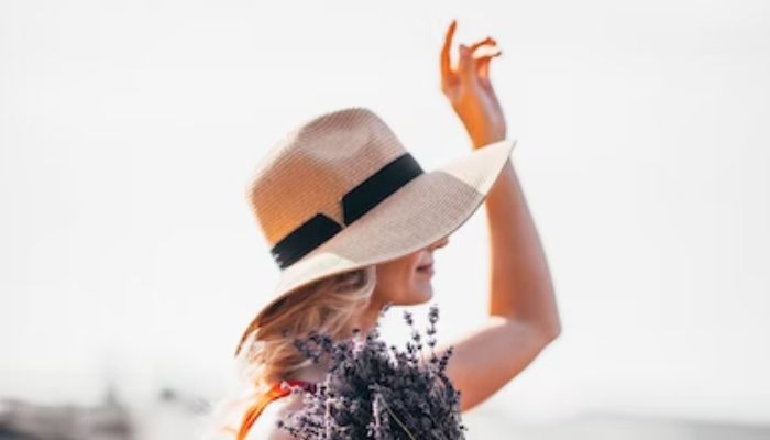
{"label": "woman's bare raised arm with hand, bent at the elbow", "polygon": [[[460,45],[458,68],[449,59],[453,21],[441,52],[441,89],[465,125],[474,148],[506,138],[506,124],[488,78],[490,61],[475,56],[494,45],[487,37]],[[488,321],[451,343],[447,374],[462,392],[466,411],[486,400],[520,373],[561,331],[553,285],[521,186],[508,161],[487,195],[490,227]],[[438,352],[446,350],[440,346]]]}

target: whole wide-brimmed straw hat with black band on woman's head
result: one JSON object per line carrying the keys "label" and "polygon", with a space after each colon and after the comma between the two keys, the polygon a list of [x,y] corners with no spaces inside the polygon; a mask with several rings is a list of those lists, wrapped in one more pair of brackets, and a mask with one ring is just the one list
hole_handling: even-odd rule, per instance
{"label": "whole wide-brimmed straw hat with black band on woman's head", "polygon": [[516,140],[425,172],[372,110],[320,114],[257,165],[248,198],[280,277],[243,332],[271,306],[329,275],[418,251],[462,226],[486,198]]}

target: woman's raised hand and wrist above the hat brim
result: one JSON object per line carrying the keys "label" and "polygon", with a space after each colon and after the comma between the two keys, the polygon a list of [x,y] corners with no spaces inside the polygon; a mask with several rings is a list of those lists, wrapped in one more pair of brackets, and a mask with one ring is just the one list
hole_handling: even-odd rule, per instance
{"label": "woman's raised hand and wrist above the hat brim", "polygon": [[457,20],[452,20],[441,50],[441,91],[465,125],[473,147],[477,148],[506,136],[505,116],[490,82],[490,61],[503,52],[474,55],[484,45],[496,46],[490,36],[471,46],[460,44],[458,68],[452,69],[449,51],[455,28]]}

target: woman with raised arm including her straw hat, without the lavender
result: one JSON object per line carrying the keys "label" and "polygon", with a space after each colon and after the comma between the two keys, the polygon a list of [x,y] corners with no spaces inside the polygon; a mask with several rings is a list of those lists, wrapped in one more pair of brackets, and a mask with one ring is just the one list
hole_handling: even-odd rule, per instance
{"label": "woman with raised arm including her straw hat, without the lavender", "polygon": [[[355,107],[306,121],[260,163],[249,198],[282,275],[235,351],[251,388],[220,408],[233,416],[229,438],[292,439],[276,421],[301,400],[279,385],[312,388],[328,365],[306,359],[294,338],[365,334],[385,304],[428,301],[435,252],[482,205],[491,270],[480,290],[488,289],[488,319],[444,345],[453,346],[447,375],[462,393],[461,410],[495,394],[559,334],[548,265],[509,160],[516,142],[506,139],[490,81],[501,52],[477,54],[494,48],[490,37],[461,44],[453,67],[455,26],[440,54],[441,90],[471,138],[468,156],[422,169],[375,112]],[[469,304],[480,302],[474,294]]]}

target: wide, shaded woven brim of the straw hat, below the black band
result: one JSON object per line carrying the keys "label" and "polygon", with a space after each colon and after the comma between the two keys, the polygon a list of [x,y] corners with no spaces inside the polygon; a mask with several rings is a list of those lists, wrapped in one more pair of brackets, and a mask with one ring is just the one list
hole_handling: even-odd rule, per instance
{"label": "wide, shaded woven brim of the straw hat, below the black band", "polygon": [[[503,140],[426,172],[280,272],[241,343],[276,302],[323,277],[394,260],[451,234],[486,198],[516,146]],[[241,345],[237,350],[240,350]]]}

